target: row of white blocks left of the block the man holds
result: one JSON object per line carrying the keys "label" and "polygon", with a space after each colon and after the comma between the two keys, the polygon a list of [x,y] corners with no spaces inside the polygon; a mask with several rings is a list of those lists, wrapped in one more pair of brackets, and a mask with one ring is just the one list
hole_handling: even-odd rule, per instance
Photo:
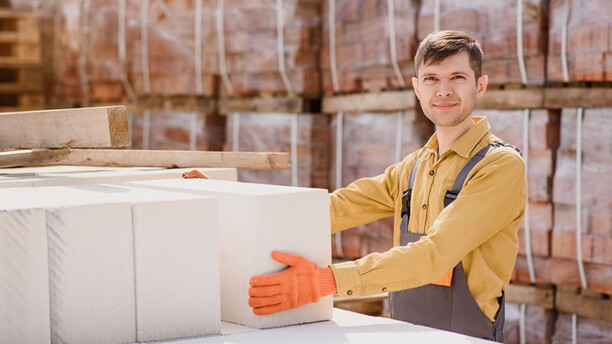
{"label": "row of white blocks left of the block the man holds", "polygon": [[9,257],[0,290],[12,291],[0,293],[0,342],[219,332],[215,199],[111,185],[5,188],[0,216],[10,238],[0,241]]}

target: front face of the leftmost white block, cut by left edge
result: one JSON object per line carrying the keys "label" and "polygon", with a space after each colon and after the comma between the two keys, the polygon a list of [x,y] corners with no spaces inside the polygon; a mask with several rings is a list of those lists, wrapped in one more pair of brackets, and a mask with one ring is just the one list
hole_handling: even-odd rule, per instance
{"label": "front face of the leftmost white block, cut by left edge", "polygon": [[0,210],[0,343],[49,343],[44,209]]}

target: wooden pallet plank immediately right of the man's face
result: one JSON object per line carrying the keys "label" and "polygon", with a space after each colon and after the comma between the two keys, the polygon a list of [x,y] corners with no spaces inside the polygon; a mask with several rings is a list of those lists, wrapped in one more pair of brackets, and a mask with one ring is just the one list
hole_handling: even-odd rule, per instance
{"label": "wooden pallet plank immediately right of the man's face", "polygon": [[476,102],[477,109],[539,109],[544,106],[542,89],[489,90]]}

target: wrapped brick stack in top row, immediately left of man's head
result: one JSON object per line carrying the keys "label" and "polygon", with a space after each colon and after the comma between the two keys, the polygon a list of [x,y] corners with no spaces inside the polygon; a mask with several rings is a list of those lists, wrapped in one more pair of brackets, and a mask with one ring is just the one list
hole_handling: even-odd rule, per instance
{"label": "wrapped brick stack in top row, immediately left of man's head", "polygon": [[[329,7],[323,5],[323,48],[321,70],[326,94],[339,92],[378,92],[411,87],[414,76],[413,56],[416,52],[414,20],[417,6],[413,1],[393,1],[395,46],[400,76],[391,58],[389,1],[334,0],[335,47],[330,48]],[[334,90],[330,49],[336,53],[338,89]]]}

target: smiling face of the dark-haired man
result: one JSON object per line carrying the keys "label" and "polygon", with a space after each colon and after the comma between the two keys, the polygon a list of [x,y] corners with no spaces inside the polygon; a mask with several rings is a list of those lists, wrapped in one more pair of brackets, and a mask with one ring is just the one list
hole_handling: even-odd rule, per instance
{"label": "smiling face of the dark-haired man", "polygon": [[482,97],[488,77],[476,80],[467,52],[426,64],[417,70],[412,86],[425,115],[436,127],[455,127],[471,120],[476,99]]}

